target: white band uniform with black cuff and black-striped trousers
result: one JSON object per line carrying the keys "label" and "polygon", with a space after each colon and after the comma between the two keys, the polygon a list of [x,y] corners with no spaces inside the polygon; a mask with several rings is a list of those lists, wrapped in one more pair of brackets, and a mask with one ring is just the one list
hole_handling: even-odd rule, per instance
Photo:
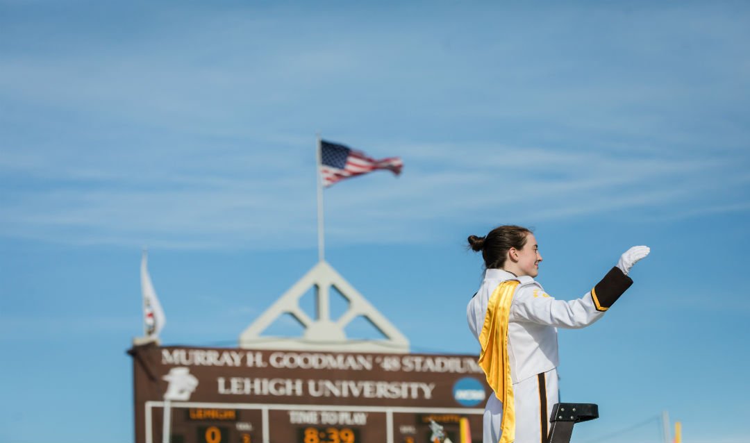
{"label": "white band uniform with black cuff and black-striped trousers", "polygon": [[[484,321],[490,315],[487,313],[490,297],[500,283],[508,280],[519,282],[512,293],[506,326],[511,398],[514,398],[508,403],[514,403],[514,441],[544,443],[552,406],[558,403],[557,328],[591,325],[625,292],[632,280],[618,268],[612,268],[595,289],[582,298],[560,301],[547,295],[532,277],[516,277],[502,269],[487,269],[481,287],[466,307],[469,329],[480,344]],[[497,443],[502,436],[501,399],[501,393],[497,392],[487,401],[484,443]]]}

